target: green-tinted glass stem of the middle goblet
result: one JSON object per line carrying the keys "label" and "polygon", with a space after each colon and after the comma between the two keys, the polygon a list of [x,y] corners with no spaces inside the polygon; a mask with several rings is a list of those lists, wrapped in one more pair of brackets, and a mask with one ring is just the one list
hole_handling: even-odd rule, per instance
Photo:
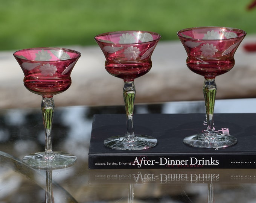
{"label": "green-tinted glass stem of the middle goblet", "polygon": [[135,137],[133,131],[133,110],[135,100],[135,85],[134,82],[125,82],[123,85],[123,99],[125,101],[126,111],[126,126],[127,126],[127,138]]}

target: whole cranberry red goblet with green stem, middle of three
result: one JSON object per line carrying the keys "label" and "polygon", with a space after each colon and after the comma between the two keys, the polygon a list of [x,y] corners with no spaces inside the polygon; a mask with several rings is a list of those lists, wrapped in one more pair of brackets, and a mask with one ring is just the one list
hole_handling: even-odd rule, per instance
{"label": "whole cranberry red goblet with green stem, middle of three", "polygon": [[135,99],[134,79],[148,73],[152,67],[151,55],[161,35],[146,31],[118,31],[95,36],[105,55],[105,69],[112,76],[123,79],[123,98],[126,110],[126,135],[105,139],[104,145],[117,150],[142,150],[154,147],[157,139],[138,135],[133,130]]}

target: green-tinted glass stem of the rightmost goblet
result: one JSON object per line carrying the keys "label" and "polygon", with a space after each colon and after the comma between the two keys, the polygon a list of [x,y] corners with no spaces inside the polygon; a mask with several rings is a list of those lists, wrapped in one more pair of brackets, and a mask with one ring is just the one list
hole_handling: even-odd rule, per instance
{"label": "green-tinted glass stem of the rightmost goblet", "polygon": [[216,90],[217,90],[217,87],[216,87],[215,79],[204,79],[203,92],[204,92],[206,120],[207,120],[206,133],[214,132],[213,111],[214,111],[214,105],[215,105]]}

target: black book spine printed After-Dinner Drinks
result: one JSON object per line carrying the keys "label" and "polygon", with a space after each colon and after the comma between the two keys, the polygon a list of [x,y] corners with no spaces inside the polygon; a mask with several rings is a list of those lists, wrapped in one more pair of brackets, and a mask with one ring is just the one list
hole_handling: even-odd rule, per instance
{"label": "black book spine printed After-Dinner Drinks", "polygon": [[89,156],[89,169],[256,168],[256,155]]}

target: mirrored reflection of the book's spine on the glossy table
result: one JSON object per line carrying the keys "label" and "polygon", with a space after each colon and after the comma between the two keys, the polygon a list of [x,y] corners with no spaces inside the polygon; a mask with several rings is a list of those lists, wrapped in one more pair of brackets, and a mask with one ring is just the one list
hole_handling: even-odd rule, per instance
{"label": "mirrored reflection of the book's spine on the glossy table", "polygon": [[90,184],[256,183],[254,169],[90,170]]}

